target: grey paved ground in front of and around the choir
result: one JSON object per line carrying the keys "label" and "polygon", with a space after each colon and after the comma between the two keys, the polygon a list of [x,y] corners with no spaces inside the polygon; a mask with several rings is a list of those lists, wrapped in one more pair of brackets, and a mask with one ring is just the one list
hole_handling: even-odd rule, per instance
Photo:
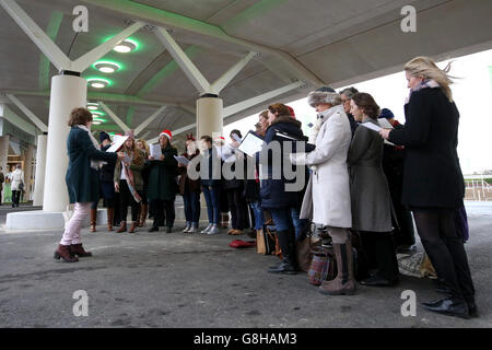
{"label": "grey paved ground in front of and around the choir", "polygon": [[[0,222],[10,210],[0,207]],[[361,285],[354,296],[321,295],[305,273],[266,272],[276,257],[230,248],[233,238],[224,232],[84,230],[94,257],[63,264],[52,259],[61,231],[0,231],[0,327],[491,327],[491,207],[471,206],[469,217],[466,247],[481,313],[476,319],[420,306],[415,317],[401,316],[402,291],[415,291],[418,303],[440,296],[429,279],[402,277],[397,288]],[[78,290],[89,295],[86,317],[73,315]]]}

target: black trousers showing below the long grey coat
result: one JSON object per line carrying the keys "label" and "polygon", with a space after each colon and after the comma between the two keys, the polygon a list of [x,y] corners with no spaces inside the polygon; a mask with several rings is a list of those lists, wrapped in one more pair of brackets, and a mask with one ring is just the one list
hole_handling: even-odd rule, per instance
{"label": "black trousers showing below the long grey coat", "polygon": [[377,275],[394,281],[398,278],[398,260],[390,232],[360,232],[362,249],[368,269],[377,269]]}

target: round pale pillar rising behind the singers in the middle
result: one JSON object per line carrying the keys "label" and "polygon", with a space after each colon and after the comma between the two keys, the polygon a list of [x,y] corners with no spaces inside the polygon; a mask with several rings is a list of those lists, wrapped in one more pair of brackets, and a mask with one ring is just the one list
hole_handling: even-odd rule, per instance
{"label": "round pale pillar rising behind the singers in the middle", "polygon": [[197,100],[197,140],[202,136],[222,135],[223,102],[216,95],[207,94]]}

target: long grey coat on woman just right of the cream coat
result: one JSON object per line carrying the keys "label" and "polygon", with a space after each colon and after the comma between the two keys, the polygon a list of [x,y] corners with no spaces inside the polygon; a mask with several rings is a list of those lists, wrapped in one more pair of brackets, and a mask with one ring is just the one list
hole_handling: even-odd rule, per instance
{"label": "long grey coat on woman just right of the cream coat", "polygon": [[[364,119],[362,124],[377,121]],[[391,197],[383,172],[383,139],[373,130],[360,126],[349,149],[352,229],[390,232]]]}

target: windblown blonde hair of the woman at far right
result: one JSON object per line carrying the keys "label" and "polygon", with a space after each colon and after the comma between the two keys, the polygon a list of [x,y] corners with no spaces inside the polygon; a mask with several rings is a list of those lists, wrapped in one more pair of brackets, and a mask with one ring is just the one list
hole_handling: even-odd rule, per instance
{"label": "windblown blonde hair of the woman at far right", "polygon": [[403,70],[413,77],[423,77],[425,80],[435,80],[446,97],[449,98],[449,102],[453,102],[453,93],[449,85],[454,83],[452,79],[455,79],[455,77],[448,74],[450,66],[452,62],[449,62],[446,68],[441,69],[431,58],[419,56],[408,61],[405,65]]}

